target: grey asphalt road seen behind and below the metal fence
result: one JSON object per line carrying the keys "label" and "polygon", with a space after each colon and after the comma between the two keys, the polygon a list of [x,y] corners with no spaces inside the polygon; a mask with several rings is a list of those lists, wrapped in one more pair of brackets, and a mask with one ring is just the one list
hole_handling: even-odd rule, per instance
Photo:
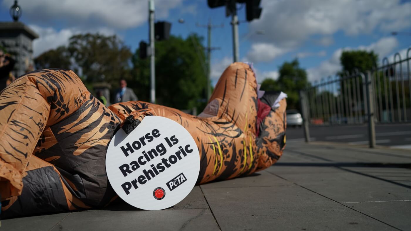
{"label": "grey asphalt road seen behind and below the metal fence", "polygon": [[[376,144],[411,149],[411,124],[376,124]],[[312,141],[368,144],[367,125],[310,126]],[[287,143],[304,142],[302,128],[287,127]]]}

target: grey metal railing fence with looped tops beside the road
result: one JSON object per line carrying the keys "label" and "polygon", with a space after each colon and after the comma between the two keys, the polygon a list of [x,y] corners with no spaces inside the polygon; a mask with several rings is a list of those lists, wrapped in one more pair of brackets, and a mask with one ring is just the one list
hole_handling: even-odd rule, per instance
{"label": "grey metal railing fence with looped tops beside the road", "polygon": [[411,48],[406,57],[396,53],[391,63],[385,57],[381,66],[369,71],[323,78],[300,91],[306,139],[308,125],[367,123],[374,146],[374,123],[411,122],[410,52]]}

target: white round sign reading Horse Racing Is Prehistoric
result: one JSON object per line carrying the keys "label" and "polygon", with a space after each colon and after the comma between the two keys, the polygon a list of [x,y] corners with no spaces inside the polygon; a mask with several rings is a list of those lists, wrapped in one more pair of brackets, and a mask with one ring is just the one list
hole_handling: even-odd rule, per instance
{"label": "white round sign reading Horse Racing Is Prehistoric", "polygon": [[200,172],[199,149],[177,122],[146,116],[129,135],[122,129],[115,133],[106,172],[128,204],[145,210],[169,208],[193,189]]}

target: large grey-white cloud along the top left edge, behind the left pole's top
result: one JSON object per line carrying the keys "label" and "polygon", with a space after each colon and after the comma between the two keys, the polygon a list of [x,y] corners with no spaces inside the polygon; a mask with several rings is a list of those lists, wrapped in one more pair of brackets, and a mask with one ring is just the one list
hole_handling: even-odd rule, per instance
{"label": "large grey-white cloud along the top left edge, behind the left pole's top", "polygon": [[[182,0],[156,0],[156,18],[166,18]],[[7,9],[13,0],[4,0]],[[68,27],[137,27],[148,19],[148,0],[19,0],[23,17],[30,23],[62,22]]]}

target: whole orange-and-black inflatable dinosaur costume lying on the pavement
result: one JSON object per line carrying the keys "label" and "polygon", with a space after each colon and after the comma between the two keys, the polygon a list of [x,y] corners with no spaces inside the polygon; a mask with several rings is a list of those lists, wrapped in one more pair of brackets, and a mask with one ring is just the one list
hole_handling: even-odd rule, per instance
{"label": "whole orange-and-black inflatable dinosaur costume lying on the pavement", "polygon": [[21,76],[0,94],[2,218],[109,204],[116,195],[106,176],[107,146],[117,129],[129,133],[150,115],[173,119],[193,136],[197,184],[269,167],[285,146],[286,101],[258,88],[249,64],[231,64],[196,117],[141,101],[106,107],[72,71]]}

